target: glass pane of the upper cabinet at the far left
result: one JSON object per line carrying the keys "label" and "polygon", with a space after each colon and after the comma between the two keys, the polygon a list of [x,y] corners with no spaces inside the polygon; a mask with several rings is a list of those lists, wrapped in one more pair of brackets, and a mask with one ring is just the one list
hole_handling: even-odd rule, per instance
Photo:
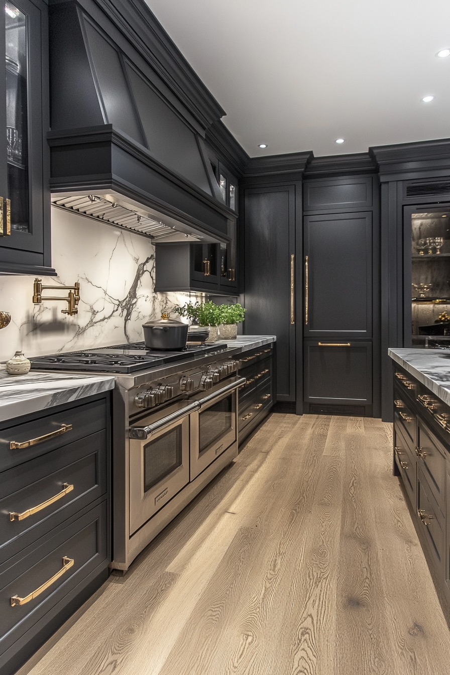
{"label": "glass pane of the upper cabinet at the far left", "polygon": [[7,205],[11,230],[30,232],[28,194],[28,22],[5,3]]}

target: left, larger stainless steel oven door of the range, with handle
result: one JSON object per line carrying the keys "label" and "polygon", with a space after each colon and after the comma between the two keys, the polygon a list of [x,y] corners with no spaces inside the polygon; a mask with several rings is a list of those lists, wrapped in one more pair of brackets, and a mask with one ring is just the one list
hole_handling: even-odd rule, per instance
{"label": "left, larger stainless steel oven door of the range, with handle", "polygon": [[130,535],[189,483],[186,401],[152,412],[130,426]]}

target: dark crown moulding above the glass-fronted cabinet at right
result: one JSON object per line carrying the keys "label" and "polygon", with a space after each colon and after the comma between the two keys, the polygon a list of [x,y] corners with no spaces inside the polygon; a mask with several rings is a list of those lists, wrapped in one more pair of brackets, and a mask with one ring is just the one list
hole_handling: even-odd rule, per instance
{"label": "dark crown moulding above the glass-fronted cabinet at right", "polygon": [[[369,148],[382,180],[400,180],[399,174],[420,178],[420,173],[450,169],[450,138],[423,140]],[[387,175],[389,174],[389,175]]]}

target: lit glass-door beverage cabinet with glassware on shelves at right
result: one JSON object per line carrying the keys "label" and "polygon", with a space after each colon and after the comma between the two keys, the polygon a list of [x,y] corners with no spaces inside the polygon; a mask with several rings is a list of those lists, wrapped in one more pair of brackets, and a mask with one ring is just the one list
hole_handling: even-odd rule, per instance
{"label": "lit glass-door beverage cabinet with glassware on shelves at right", "polygon": [[405,344],[450,348],[450,205],[405,211],[411,223],[412,297],[411,338]]}

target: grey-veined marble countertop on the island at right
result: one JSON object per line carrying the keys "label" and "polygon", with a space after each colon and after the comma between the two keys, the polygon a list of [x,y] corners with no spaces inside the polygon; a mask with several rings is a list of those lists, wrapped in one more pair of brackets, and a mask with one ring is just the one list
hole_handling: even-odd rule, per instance
{"label": "grey-veined marble countertop on the island at right", "polygon": [[390,349],[389,356],[450,406],[449,349]]}

